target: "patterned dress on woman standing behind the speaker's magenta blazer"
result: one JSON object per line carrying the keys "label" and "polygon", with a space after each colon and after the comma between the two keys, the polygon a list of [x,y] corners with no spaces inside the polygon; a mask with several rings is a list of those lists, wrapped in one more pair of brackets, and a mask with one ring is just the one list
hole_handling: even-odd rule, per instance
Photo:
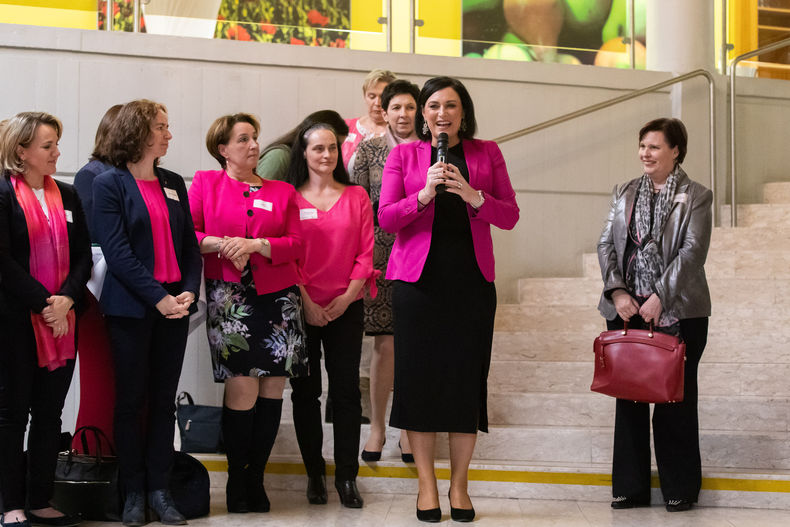
{"label": "patterned dress on woman standing behind the speaker's magenta blazer", "polygon": [[384,279],[387,273],[387,261],[390,258],[395,235],[383,230],[378,225],[376,215],[381,194],[381,174],[390,147],[384,136],[363,141],[357,147],[354,173],[351,182],[362,186],[370,196],[373,204],[373,267],[381,271],[376,278],[379,293],[376,298],[365,298],[365,333],[367,335],[392,335],[392,282]]}

